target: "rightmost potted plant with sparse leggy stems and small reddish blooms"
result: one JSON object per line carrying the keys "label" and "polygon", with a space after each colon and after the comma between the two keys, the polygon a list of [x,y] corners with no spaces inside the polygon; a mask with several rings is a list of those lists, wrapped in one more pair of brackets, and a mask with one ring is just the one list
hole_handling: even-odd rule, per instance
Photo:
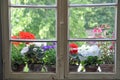
{"label": "rightmost potted plant with sparse leggy stems and small reddish blooms", "polygon": [[100,64],[100,68],[102,72],[113,72],[114,71],[114,44],[108,47],[110,43],[102,43],[102,55],[101,60],[102,64]]}

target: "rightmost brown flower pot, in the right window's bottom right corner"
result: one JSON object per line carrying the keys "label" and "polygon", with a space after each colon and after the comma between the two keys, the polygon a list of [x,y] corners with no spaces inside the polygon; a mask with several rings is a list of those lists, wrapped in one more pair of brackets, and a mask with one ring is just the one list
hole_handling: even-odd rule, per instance
{"label": "rightmost brown flower pot, in the right window's bottom right corner", "polygon": [[114,64],[100,64],[100,68],[102,72],[113,72]]}

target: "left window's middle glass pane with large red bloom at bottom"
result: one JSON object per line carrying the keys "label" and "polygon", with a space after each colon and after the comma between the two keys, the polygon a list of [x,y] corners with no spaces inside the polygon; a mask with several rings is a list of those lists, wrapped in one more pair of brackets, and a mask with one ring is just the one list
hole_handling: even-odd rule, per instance
{"label": "left window's middle glass pane with large red bloom at bottom", "polygon": [[11,36],[15,35],[18,39],[55,39],[55,16],[55,9],[11,8]]}

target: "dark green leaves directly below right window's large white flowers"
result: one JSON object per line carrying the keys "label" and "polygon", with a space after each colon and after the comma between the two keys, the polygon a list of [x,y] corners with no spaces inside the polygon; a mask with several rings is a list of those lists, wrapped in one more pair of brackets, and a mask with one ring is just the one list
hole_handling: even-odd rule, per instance
{"label": "dark green leaves directly below right window's large white flowers", "polygon": [[82,65],[99,65],[101,64],[101,60],[97,56],[88,56],[86,60],[82,61]]}

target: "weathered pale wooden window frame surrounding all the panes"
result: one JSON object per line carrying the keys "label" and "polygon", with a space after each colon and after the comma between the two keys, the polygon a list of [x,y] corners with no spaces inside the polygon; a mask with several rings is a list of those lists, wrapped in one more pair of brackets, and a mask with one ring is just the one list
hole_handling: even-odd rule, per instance
{"label": "weathered pale wooden window frame surrounding all the panes", "polygon": [[[78,80],[78,79],[120,79],[120,0],[117,4],[89,4],[89,5],[68,5],[68,0],[57,0],[57,6],[32,6],[32,5],[10,5],[9,0],[2,0],[2,54],[5,80]],[[117,6],[116,10],[116,39],[68,39],[68,8],[69,7],[94,7],[94,6]],[[10,42],[19,40],[9,39],[9,7],[29,8],[57,8],[57,66],[56,73],[15,73],[10,69]],[[115,73],[77,73],[68,72],[67,46],[69,41],[116,41],[116,71]],[[26,40],[20,40],[26,41]],[[32,41],[32,40],[28,40]],[[51,40],[35,40],[43,42]]]}

